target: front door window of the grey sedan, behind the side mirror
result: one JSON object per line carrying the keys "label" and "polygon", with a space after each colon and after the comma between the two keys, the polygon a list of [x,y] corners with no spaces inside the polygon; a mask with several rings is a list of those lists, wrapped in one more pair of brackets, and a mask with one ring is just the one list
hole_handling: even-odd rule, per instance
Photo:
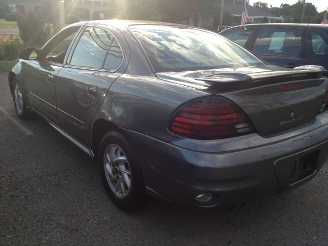
{"label": "front door window of the grey sedan, behind the side mirror", "polygon": [[69,29],[63,37],[59,37],[59,40],[55,40],[55,46],[53,48],[50,47],[50,52],[46,55],[46,60],[52,61],[54,63],[64,64],[64,58],[66,52],[72,43],[73,38],[78,32],[80,27],[73,27]]}

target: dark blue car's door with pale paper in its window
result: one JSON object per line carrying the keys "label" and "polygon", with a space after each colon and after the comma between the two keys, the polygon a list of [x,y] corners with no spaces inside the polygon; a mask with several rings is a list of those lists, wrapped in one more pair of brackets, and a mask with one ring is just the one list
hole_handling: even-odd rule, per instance
{"label": "dark blue car's door with pale paper in its window", "polygon": [[294,68],[304,65],[305,38],[300,28],[264,27],[250,50],[270,64]]}

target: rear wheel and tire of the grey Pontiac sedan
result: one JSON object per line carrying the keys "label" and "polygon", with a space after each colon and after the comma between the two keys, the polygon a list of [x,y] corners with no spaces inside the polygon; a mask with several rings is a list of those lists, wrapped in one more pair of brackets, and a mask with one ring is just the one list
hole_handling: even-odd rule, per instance
{"label": "rear wheel and tire of the grey Pontiac sedan", "polygon": [[117,131],[106,133],[100,143],[98,162],[104,188],[118,208],[131,211],[146,201],[140,167],[125,136]]}

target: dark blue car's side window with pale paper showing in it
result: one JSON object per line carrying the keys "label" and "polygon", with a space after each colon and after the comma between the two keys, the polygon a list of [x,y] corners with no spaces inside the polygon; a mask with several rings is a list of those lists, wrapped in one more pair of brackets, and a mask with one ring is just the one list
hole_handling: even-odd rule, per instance
{"label": "dark blue car's side window with pale paper showing in it", "polygon": [[301,49],[301,30],[265,28],[256,38],[252,51],[257,55],[298,57]]}

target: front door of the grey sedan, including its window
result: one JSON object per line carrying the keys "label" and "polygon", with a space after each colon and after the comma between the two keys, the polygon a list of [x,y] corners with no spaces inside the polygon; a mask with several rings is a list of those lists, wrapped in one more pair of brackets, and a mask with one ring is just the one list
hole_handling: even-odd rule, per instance
{"label": "front door of the grey sedan, including its window", "polygon": [[63,68],[64,58],[80,26],[63,30],[29,62],[25,72],[30,106],[52,122],[57,121],[55,77]]}

